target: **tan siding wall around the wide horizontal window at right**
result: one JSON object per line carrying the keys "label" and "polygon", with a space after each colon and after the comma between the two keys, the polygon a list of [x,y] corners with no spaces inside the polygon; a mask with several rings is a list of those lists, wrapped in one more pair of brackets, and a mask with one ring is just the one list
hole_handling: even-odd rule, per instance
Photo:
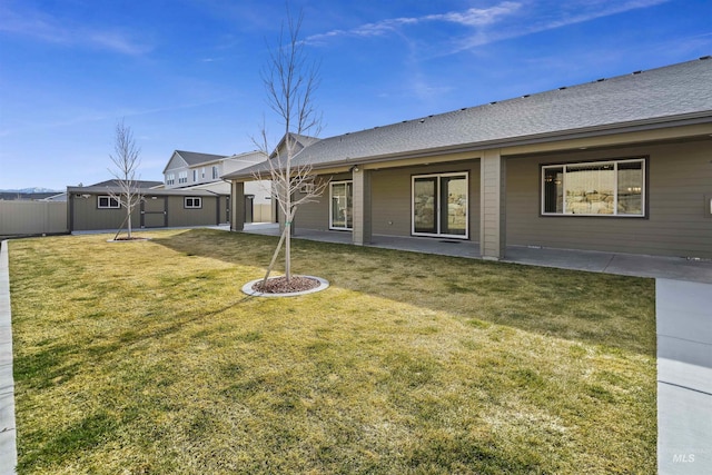
{"label": "tan siding wall around the wide horizontal window at right", "polygon": [[[646,218],[540,216],[540,166],[650,157]],[[712,258],[712,141],[510,158],[507,245]]]}

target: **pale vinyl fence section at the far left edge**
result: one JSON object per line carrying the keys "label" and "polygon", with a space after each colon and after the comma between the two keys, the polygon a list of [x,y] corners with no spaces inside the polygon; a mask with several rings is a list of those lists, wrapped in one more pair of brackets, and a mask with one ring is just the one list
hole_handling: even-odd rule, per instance
{"label": "pale vinyl fence section at the far left edge", "polygon": [[69,232],[62,201],[0,201],[0,236]]}

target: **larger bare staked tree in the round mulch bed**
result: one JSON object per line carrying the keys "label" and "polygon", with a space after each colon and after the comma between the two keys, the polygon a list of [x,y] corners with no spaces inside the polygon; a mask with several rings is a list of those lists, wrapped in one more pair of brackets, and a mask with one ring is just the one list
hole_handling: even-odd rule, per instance
{"label": "larger bare staked tree in the round mulch bed", "polygon": [[[269,176],[255,174],[258,180],[271,180],[271,194],[285,217],[285,227],[267,268],[263,286],[277,260],[281,246],[285,247],[285,277],[291,279],[291,226],[297,208],[316,201],[326,189],[328,180],[318,180],[312,174],[312,164],[293,164],[301,135],[316,136],[322,128],[322,116],[314,109],[314,92],[318,87],[318,65],[308,62],[299,39],[304,16],[295,19],[287,8],[287,26],[283,24],[277,48],[269,49],[269,61],[261,71],[267,92],[267,103],[284,126],[284,141],[267,162]],[[267,128],[263,123],[260,139],[253,140],[268,157]]]}

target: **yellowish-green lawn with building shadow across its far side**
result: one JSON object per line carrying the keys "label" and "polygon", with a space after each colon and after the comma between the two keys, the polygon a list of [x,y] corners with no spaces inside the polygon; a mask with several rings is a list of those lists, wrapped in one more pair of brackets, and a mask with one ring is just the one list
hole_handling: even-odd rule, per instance
{"label": "yellowish-green lawn with building shadow across its far side", "polygon": [[19,473],[655,473],[651,279],[276,238],[10,241]]}

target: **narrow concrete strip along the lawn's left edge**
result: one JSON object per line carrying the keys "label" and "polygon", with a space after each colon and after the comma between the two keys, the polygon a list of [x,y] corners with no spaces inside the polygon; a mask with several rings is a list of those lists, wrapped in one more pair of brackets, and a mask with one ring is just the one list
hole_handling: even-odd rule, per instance
{"label": "narrow concrete strip along the lawn's left edge", "polygon": [[13,474],[18,464],[12,378],[12,327],[8,241],[0,243],[0,474]]}

